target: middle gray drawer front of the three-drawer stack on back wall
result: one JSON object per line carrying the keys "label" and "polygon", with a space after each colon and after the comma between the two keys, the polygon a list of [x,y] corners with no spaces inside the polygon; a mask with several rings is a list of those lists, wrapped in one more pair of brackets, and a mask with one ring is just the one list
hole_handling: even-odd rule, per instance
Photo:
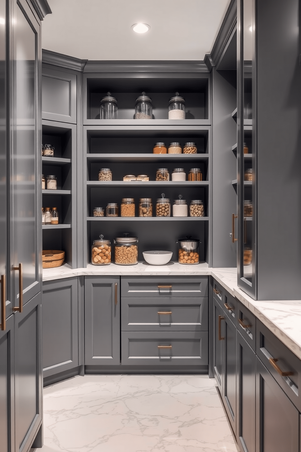
{"label": "middle gray drawer front of the three-drawer stack on back wall", "polygon": [[122,331],[208,331],[208,298],[121,300]]}

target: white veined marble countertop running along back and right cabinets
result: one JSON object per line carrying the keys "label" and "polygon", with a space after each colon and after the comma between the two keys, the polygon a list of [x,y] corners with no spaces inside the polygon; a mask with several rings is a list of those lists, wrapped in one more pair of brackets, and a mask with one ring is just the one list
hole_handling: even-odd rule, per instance
{"label": "white veined marble countertop running along back and right cabinets", "polygon": [[246,306],[283,344],[301,359],[301,300],[256,301],[237,286],[236,268],[209,268],[208,264],[182,265],[170,262],[166,265],[149,265],[139,262],[137,265],[95,266],[71,268],[65,264],[57,268],[44,268],[43,281],[53,281],[73,276],[112,276],[112,275],[211,275],[233,297]]}

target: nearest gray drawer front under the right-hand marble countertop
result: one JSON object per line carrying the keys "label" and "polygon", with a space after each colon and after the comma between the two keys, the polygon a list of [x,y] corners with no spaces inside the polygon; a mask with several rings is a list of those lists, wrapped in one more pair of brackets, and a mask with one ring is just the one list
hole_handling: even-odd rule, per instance
{"label": "nearest gray drawer front under the right-hand marble countertop", "polygon": [[[288,398],[301,411],[301,361],[258,319],[256,354]],[[283,375],[283,372],[286,374]]]}

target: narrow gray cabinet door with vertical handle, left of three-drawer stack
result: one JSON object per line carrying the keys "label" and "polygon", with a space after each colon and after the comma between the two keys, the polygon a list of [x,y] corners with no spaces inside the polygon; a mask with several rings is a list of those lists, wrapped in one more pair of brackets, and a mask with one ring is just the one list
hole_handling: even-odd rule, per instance
{"label": "narrow gray cabinet door with vertical handle, left of three-drawer stack", "polygon": [[85,276],[85,365],[120,364],[120,278]]}

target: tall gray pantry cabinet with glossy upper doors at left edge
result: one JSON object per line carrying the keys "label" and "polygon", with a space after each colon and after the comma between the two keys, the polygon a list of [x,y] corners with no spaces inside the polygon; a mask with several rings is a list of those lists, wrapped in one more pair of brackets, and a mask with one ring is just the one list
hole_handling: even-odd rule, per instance
{"label": "tall gray pantry cabinet with glossy upper doors at left edge", "polygon": [[[42,443],[41,19],[46,2],[0,0],[0,450]],[[2,44],[5,45],[2,45]],[[30,394],[30,397],[28,397]]]}

